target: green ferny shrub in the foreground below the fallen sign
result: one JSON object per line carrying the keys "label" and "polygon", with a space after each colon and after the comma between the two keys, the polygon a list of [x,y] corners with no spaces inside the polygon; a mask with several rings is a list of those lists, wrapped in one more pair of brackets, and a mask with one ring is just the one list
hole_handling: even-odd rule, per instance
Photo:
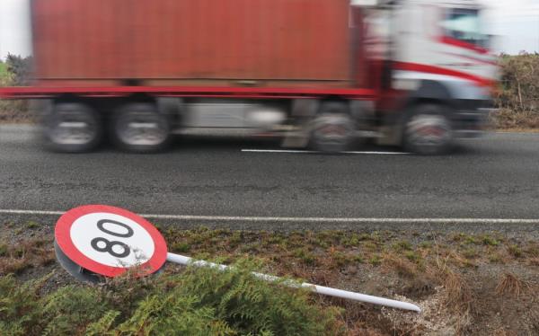
{"label": "green ferny shrub in the foreground below the fallen sign", "polygon": [[67,286],[0,279],[0,330],[10,335],[339,334],[339,310],[314,305],[305,289],[252,276],[252,261],[219,271],[189,267],[148,279]]}

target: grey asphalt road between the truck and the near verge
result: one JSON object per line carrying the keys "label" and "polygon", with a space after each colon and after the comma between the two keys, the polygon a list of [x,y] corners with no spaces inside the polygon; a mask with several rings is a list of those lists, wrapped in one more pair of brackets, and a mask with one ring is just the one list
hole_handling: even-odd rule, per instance
{"label": "grey asphalt road between the truck and the near verge", "polygon": [[539,134],[490,134],[441,157],[242,152],[253,148],[278,146],[180,138],[160,155],[110,147],[65,155],[44,150],[36,128],[0,126],[0,209],[108,204],[182,216],[514,218],[539,224]]}

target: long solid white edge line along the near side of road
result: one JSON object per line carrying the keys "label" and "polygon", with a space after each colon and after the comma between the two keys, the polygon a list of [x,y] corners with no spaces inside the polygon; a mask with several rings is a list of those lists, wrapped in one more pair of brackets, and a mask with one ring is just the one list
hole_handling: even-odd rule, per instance
{"label": "long solid white edge line along the near side of road", "polygon": [[[0,209],[0,215],[61,216],[64,211]],[[227,222],[295,222],[295,223],[403,223],[403,224],[539,224],[538,219],[518,218],[340,218],[340,217],[241,217],[139,214],[154,219]]]}

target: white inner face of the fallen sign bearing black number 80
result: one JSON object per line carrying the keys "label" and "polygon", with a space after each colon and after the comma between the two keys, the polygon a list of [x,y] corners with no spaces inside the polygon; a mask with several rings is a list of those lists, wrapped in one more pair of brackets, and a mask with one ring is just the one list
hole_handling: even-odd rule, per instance
{"label": "white inner face of the fallen sign bearing black number 80", "polygon": [[77,218],[69,235],[85,257],[111,267],[141,265],[155,252],[154,239],[142,225],[111,213],[91,213]]}

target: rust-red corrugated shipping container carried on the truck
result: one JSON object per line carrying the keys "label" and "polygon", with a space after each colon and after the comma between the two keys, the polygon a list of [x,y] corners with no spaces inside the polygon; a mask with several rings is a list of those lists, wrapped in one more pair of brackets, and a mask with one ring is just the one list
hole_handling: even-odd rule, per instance
{"label": "rust-red corrugated shipping container carried on the truck", "polygon": [[349,0],[33,0],[42,85],[351,86]]}

